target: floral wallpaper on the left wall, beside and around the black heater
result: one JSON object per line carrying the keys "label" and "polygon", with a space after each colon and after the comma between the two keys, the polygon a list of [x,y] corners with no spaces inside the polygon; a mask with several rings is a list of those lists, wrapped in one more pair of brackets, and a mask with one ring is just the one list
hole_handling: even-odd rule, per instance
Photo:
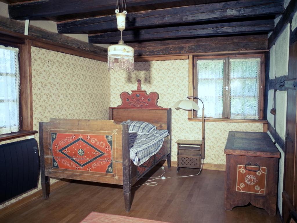
{"label": "floral wallpaper on the left wall, beside and around the black heater", "polygon": [[[110,75],[106,62],[36,47],[31,48],[31,57],[34,130],[38,131],[39,122],[50,118],[108,119]],[[34,138],[39,142],[39,134]],[[40,182],[37,189],[1,204],[0,208],[39,189]]]}

